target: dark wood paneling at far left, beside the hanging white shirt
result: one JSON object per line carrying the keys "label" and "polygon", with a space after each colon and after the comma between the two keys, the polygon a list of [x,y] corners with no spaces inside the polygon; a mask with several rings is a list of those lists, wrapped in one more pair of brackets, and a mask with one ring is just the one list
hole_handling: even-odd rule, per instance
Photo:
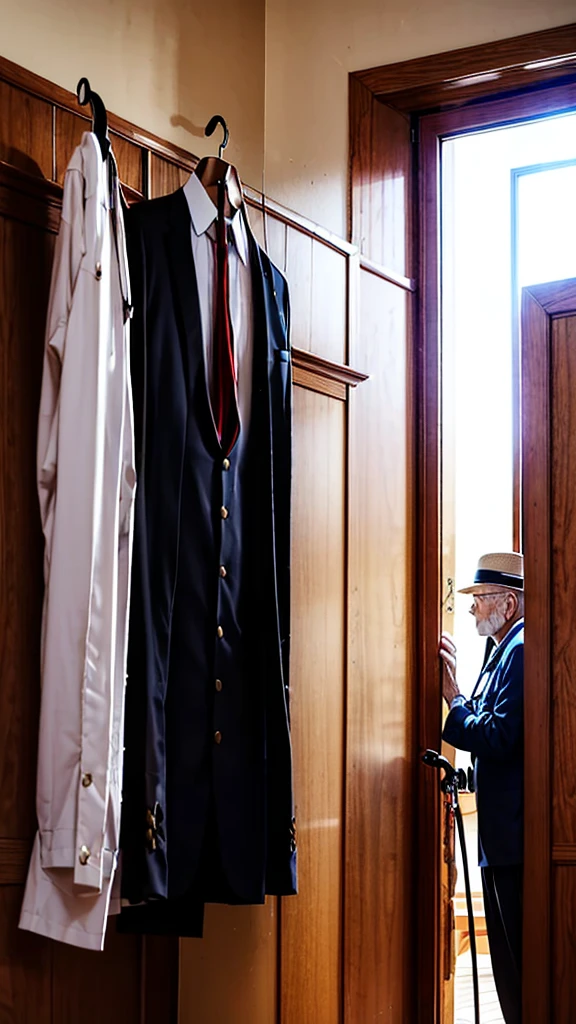
{"label": "dark wood paneling at far left, beside the hanging white shirt", "polygon": [[35,829],[42,600],[36,425],[53,238],[34,223],[37,199],[33,223],[26,222],[19,200],[34,182],[26,175],[12,219],[14,177],[3,176],[0,216],[0,1019],[52,1024],[50,946],[19,932],[17,922]]}

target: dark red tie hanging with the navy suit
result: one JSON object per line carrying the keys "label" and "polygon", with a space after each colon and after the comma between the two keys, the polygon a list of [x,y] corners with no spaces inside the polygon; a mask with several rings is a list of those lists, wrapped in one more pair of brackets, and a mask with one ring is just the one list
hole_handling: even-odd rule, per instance
{"label": "dark red tie hanging with the navy suit", "polygon": [[212,346],[212,412],[218,440],[224,455],[230,455],[240,433],[236,394],[234,345],[229,305],[228,227],[224,220],[225,183],[218,181],[218,219],[216,221],[216,302]]}

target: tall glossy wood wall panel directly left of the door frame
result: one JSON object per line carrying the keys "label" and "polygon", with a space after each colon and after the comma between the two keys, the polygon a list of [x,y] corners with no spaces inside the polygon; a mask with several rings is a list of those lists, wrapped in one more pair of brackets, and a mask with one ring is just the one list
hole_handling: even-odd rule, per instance
{"label": "tall glossy wood wall panel directly left of the door frame", "polygon": [[406,1024],[417,987],[408,302],[362,273],[351,359],[371,377],[349,397],[344,1024]]}

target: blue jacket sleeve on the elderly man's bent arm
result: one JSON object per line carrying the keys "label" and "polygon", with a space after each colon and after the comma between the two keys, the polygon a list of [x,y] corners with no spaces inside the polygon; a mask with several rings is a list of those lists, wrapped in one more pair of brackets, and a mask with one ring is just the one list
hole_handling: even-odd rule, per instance
{"label": "blue jacket sleeve on the elderly man's bent arm", "polygon": [[524,714],[524,646],[510,653],[493,708],[475,714],[456,697],[446,719],[443,738],[476,757],[506,758],[522,740]]}

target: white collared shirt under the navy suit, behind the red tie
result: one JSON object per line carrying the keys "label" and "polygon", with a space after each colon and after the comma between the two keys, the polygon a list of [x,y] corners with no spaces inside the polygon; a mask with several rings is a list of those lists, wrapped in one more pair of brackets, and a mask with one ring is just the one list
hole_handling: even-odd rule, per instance
{"label": "white collared shirt under the navy suit, behind the red tie", "polygon": [[[208,394],[210,394],[215,300],[215,221],[218,211],[196,174],[190,176],[183,186],[183,191],[190,209],[192,255],[196,267],[200,300],[206,384]],[[230,315],[238,381],[240,425],[245,438],[252,403],[254,324],[248,236],[241,210],[238,210],[230,221],[229,236],[231,237],[229,245]]]}

